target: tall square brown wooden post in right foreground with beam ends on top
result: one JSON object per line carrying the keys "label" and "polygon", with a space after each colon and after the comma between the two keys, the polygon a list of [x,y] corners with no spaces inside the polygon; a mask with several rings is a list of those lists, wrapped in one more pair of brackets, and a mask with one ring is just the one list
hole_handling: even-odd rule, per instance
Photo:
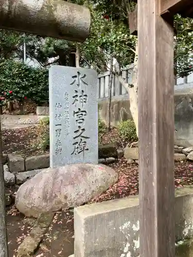
{"label": "tall square brown wooden post in right foreground with beam ends on top", "polygon": [[173,15],[176,13],[193,17],[193,1],[138,0],[137,11],[129,17],[130,31],[138,34],[141,257],[175,256]]}

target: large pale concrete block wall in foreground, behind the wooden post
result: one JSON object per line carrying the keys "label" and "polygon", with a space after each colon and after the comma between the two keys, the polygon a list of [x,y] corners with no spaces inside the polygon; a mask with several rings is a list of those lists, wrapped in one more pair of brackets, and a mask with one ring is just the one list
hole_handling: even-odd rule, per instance
{"label": "large pale concrete block wall in foreground, behind the wooden post", "polygon": [[[176,190],[176,240],[193,235],[193,186]],[[75,208],[76,257],[139,255],[138,196]]]}

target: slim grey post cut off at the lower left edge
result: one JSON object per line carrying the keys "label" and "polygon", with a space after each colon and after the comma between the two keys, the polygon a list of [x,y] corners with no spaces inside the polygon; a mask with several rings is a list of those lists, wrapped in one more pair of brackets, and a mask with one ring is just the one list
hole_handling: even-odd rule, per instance
{"label": "slim grey post cut off at the lower left edge", "polygon": [[3,149],[2,132],[0,121],[0,257],[8,257],[7,229],[6,229],[6,210],[4,192],[4,170],[3,170]]}

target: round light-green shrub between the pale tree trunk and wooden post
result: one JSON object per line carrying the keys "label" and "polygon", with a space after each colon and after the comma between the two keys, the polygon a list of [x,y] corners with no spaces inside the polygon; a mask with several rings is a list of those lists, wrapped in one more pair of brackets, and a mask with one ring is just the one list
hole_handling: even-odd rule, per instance
{"label": "round light-green shrub between the pale tree trunk and wooden post", "polygon": [[118,124],[119,137],[124,141],[136,141],[136,127],[133,120],[121,121]]}

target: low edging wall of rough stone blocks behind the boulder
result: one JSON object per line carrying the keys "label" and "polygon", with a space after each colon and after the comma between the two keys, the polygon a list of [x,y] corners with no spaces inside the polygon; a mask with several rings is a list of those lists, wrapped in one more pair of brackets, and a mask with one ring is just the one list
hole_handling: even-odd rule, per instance
{"label": "low edging wall of rough stone blocks behind the boulder", "polygon": [[[174,146],[174,152],[175,161],[193,161],[193,147],[185,149],[182,146]],[[99,146],[98,155],[98,162],[103,164],[113,163],[123,156],[125,156],[128,163],[138,163],[137,147],[126,148],[125,151],[121,151],[117,150],[116,146],[111,143]],[[38,174],[42,169],[49,168],[49,153],[27,158],[23,158],[20,155],[4,154],[3,164],[6,186],[14,185],[14,183],[20,185]]]}

